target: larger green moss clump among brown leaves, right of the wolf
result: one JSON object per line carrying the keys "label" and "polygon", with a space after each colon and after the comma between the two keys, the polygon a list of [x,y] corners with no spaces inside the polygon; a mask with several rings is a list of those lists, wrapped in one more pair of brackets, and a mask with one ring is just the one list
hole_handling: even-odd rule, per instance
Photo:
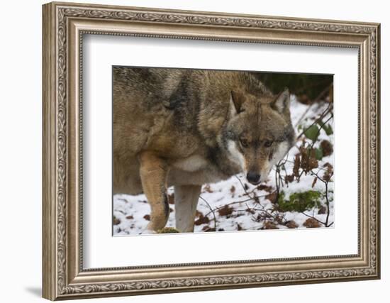
{"label": "larger green moss clump among brown leaves, right of the wolf", "polygon": [[321,192],[308,190],[307,192],[294,192],[289,200],[285,199],[284,192],[279,193],[278,204],[280,211],[306,211],[321,206]]}

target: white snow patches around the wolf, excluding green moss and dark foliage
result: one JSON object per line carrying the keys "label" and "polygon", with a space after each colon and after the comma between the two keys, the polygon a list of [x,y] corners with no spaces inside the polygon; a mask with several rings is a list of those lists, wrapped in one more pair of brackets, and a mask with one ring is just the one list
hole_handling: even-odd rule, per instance
{"label": "white snow patches around the wolf, excluding green moss and dark foliage", "polygon": [[[310,126],[318,116],[325,111],[328,104],[323,102],[307,106],[291,99],[291,119],[296,128],[296,134]],[[327,119],[325,116],[323,119]],[[333,124],[333,119],[330,119]],[[318,147],[319,142],[327,140],[333,145],[333,134],[327,135],[321,129],[318,142],[313,145]],[[306,139],[308,141],[308,139]],[[299,140],[294,148],[291,148],[286,156],[284,168],[290,174],[294,167],[294,156],[299,153]],[[318,160],[318,169],[314,169],[321,175],[326,167],[325,163],[333,165],[333,154]],[[324,166],[325,165],[325,166]],[[299,182],[283,184],[280,188],[288,198],[290,194],[316,190],[325,192],[323,182],[315,182],[311,174],[301,175]],[[214,184],[205,184],[201,191],[195,232],[204,231],[241,231],[248,229],[282,229],[282,228],[307,228],[324,227],[328,216],[328,226],[333,226],[333,177],[328,182],[328,199],[330,201],[329,215],[326,210],[325,197],[321,197],[321,205],[317,205],[306,211],[279,211],[275,207],[274,191],[276,189],[275,170],[269,174],[269,180],[260,186],[249,184],[243,175],[236,175],[229,180]],[[168,189],[170,215],[167,227],[174,227],[174,195],[173,189]],[[135,235],[145,230],[150,214],[150,206],[145,195],[130,196],[116,194],[113,197],[113,234]]]}

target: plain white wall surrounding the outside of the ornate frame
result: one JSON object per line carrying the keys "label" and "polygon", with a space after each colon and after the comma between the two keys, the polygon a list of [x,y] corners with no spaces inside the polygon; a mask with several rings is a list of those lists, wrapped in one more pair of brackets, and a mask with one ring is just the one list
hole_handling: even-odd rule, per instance
{"label": "plain white wall surrounding the outside of the ornate frame", "polygon": [[[88,2],[82,1],[80,2]],[[167,9],[225,11],[307,18],[381,22],[381,138],[382,138],[382,280],[322,285],[266,287],[245,290],[160,294],[131,298],[132,302],[374,302],[389,294],[390,207],[389,160],[390,21],[386,1],[211,1],[133,0],[94,1],[101,4]],[[3,302],[37,302],[41,285],[41,4],[43,1],[4,1],[1,4],[0,46],[0,297]],[[387,137],[387,138],[386,138]],[[387,239],[386,239],[387,238]],[[386,288],[387,287],[387,288]],[[99,301],[98,301],[99,300]],[[125,302],[128,297],[88,302]],[[384,302],[381,300],[381,302]]]}

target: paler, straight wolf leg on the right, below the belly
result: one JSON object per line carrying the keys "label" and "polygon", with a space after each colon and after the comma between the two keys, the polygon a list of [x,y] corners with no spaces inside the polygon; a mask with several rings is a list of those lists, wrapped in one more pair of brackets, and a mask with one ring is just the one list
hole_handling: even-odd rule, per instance
{"label": "paler, straight wolf leg on the right, below the belly", "polygon": [[201,185],[177,185],[174,187],[174,209],[178,231],[182,233],[194,231],[199,194],[201,194]]}

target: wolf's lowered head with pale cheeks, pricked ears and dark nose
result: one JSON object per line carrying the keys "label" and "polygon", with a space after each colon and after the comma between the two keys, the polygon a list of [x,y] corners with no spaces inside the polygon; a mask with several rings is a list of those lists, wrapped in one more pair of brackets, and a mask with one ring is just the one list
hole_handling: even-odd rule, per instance
{"label": "wolf's lowered head with pale cheeks, pricked ears and dark nose", "polygon": [[226,128],[228,155],[245,172],[248,182],[267,180],[272,167],[294,145],[289,107],[288,89],[276,96],[231,92]]}

